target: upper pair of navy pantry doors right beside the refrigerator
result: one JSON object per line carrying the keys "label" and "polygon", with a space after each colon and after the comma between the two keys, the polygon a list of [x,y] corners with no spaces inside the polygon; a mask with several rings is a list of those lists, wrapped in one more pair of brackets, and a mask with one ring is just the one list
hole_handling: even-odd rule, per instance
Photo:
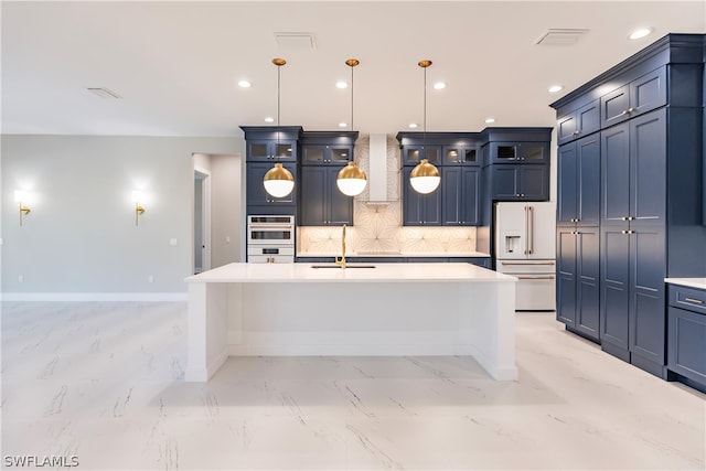
{"label": "upper pair of navy pantry doors right beside the refrigerator", "polygon": [[593,133],[559,147],[557,224],[600,223],[600,136]]}

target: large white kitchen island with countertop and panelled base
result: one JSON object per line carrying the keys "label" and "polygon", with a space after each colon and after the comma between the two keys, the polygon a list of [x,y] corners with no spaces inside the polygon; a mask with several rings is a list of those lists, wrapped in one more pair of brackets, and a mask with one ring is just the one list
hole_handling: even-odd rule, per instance
{"label": "large white kitchen island with countertop and panelled base", "polygon": [[515,281],[470,264],[229,264],[186,278],[185,381],[236,355],[469,355],[516,379]]}

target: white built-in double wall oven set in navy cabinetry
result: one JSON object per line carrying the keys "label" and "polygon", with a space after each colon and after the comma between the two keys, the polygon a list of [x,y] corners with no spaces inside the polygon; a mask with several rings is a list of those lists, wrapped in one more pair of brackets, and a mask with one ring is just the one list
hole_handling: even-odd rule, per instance
{"label": "white built-in double wall oven set in navy cabinetry", "polygon": [[295,261],[295,216],[247,216],[247,261],[291,264]]}

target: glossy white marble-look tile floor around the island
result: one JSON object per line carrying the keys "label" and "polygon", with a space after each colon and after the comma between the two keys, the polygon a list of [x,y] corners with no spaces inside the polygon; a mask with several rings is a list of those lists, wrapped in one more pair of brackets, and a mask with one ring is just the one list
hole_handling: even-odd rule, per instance
{"label": "glossy white marble-look tile floor around the island", "polygon": [[194,384],[185,311],[2,303],[2,468],[706,467],[706,396],[602,353],[552,312],[517,313],[517,382],[467,357],[238,357]]}

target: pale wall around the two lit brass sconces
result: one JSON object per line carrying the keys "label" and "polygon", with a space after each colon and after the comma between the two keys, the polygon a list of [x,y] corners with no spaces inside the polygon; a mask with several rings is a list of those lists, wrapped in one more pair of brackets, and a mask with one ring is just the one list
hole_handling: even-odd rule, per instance
{"label": "pale wall around the two lit brass sconces", "polygon": [[[185,292],[193,256],[192,156],[244,150],[242,138],[1,139],[3,293]],[[32,196],[22,227],[14,190]],[[139,226],[132,190],[146,194]]]}

